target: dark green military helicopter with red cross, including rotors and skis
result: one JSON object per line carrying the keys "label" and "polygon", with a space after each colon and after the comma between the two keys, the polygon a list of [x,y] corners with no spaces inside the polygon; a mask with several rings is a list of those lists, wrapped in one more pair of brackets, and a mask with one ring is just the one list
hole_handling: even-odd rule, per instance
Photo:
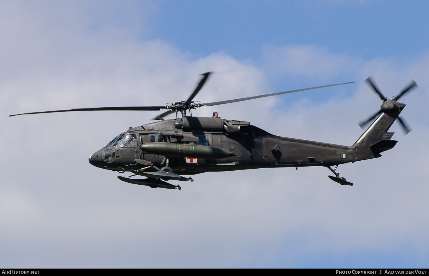
{"label": "dark green military helicopter with red cross, including rotors and skis", "polygon": [[[118,176],[124,182],[145,185],[151,188],[181,189],[167,181],[193,181],[192,176],[205,172],[249,170],[269,167],[327,167],[334,176],[328,177],[341,185],[353,186],[337,172],[338,165],[366,159],[379,158],[381,152],[392,149],[398,141],[391,140],[393,132],[387,132],[393,122],[398,119],[405,134],[411,128],[399,114],[405,104],[398,100],[417,87],[411,81],[398,95],[387,99],[375,85],[371,77],[366,82],[381,98],[380,110],[359,123],[363,129],[371,121],[372,124],[364,131],[352,146],[341,146],[308,140],[276,136],[251,125],[248,121],[227,120],[218,116],[192,116],[192,109],[203,106],[216,106],[271,97],[281,94],[346,85],[344,82],[311,88],[263,94],[234,100],[212,103],[193,101],[201,90],[211,72],[202,74],[193,93],[187,100],[167,103],[165,106],[121,106],[78,109],[58,109],[39,112],[27,112],[9,115],[39,114],[53,112],[101,111],[101,110],[140,110],[159,111],[149,124],[130,127],[119,134],[105,147],[94,152],[88,159],[95,167],[119,173],[129,172],[130,176]],[[187,115],[189,111],[189,115]],[[164,119],[169,114],[176,114],[175,119]],[[181,118],[179,118],[179,114]],[[334,169],[332,167],[335,166]],[[145,177],[136,179],[135,176]],[[177,182],[176,182],[177,183]]]}

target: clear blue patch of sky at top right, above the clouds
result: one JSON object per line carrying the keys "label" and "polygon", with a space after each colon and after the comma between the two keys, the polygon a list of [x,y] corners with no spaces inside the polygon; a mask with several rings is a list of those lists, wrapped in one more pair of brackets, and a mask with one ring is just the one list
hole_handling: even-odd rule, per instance
{"label": "clear blue patch of sky at top right, above the clouds", "polygon": [[324,45],[375,57],[427,50],[426,1],[165,1],[149,37],[202,57],[261,59],[264,45]]}

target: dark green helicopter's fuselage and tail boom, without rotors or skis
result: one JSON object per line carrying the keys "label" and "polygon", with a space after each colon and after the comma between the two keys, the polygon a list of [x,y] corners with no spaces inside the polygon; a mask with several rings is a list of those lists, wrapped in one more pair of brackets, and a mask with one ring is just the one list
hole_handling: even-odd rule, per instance
{"label": "dark green helicopter's fuselage and tail boom, without rotors or skis", "polygon": [[[380,152],[393,148],[397,141],[390,140],[393,133],[387,130],[405,104],[397,105],[397,112],[381,113],[352,146],[275,136],[245,121],[186,116],[132,127],[91,155],[89,162],[120,172],[139,170],[149,164],[155,168],[146,171],[168,166],[181,175],[268,167],[329,167],[377,158]],[[169,151],[171,147],[167,152],[156,152],[160,146],[171,145],[168,143],[182,147],[196,145],[194,148],[198,149],[190,156],[186,152]],[[156,149],[145,152],[146,148]],[[200,149],[213,148],[229,152],[229,156],[198,154]]]}

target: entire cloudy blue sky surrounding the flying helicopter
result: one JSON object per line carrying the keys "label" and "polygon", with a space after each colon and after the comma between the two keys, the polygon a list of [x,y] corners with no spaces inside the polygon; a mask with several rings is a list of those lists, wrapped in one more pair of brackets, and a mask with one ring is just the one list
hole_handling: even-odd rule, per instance
{"label": "entire cloudy blue sky surrounding the flying helicopter", "polygon": [[[427,267],[426,1],[0,2],[3,267]],[[120,182],[87,158],[157,112],[37,110],[212,102],[270,133],[351,145],[357,121],[411,79],[413,127],[381,158],[204,173],[182,190]],[[159,258],[158,256],[163,256]]]}

